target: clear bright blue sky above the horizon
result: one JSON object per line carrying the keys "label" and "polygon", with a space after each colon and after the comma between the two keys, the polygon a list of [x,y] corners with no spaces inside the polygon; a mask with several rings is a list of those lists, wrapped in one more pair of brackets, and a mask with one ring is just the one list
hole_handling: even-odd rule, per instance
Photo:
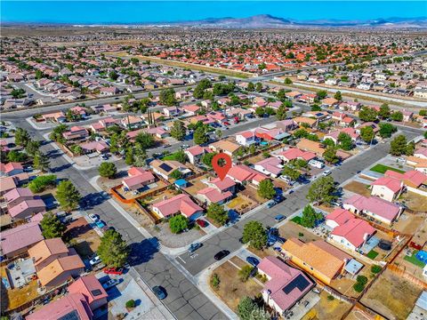
{"label": "clear bright blue sky above the horizon", "polygon": [[3,22],[136,23],[271,14],[294,20],[414,18],[426,1],[1,1]]}

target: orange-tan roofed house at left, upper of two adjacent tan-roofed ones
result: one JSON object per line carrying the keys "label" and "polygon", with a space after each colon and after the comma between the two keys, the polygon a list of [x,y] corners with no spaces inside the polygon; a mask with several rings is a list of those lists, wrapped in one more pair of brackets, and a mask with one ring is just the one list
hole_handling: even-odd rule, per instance
{"label": "orange-tan roofed house at left, upper of two adjacent tan-roofed ones", "polygon": [[53,260],[67,257],[68,253],[67,245],[59,237],[42,240],[28,250],[36,271],[47,267]]}

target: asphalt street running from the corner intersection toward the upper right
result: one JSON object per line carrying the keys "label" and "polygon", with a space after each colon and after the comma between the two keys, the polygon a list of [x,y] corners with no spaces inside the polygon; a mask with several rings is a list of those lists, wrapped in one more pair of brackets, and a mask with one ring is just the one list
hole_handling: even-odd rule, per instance
{"label": "asphalt street running from the corner intersection toward the upper right", "polygon": [[[420,132],[416,130],[404,129],[403,134],[407,136],[408,140],[415,138]],[[382,159],[389,153],[390,143],[379,143],[374,148],[367,150],[360,156],[350,158],[344,162],[341,166],[334,169],[332,176],[336,182],[340,184],[345,180],[349,180],[351,177],[357,174],[357,172],[365,170],[371,164]],[[240,220],[237,224],[231,228],[227,228],[223,232],[207,239],[203,243],[203,247],[197,250],[197,256],[189,259],[189,254],[182,253],[177,262],[181,263],[183,268],[186,268],[192,276],[196,276],[198,273],[208,268],[215,262],[214,254],[226,249],[230,252],[237,251],[242,244],[238,242],[238,239],[242,236],[243,228],[247,221],[257,220],[262,222],[264,226],[273,226],[276,224],[274,217],[278,214],[283,214],[289,217],[292,213],[302,209],[309,201],[306,199],[310,184],[303,186],[294,191],[293,194],[286,196],[286,199],[268,209],[263,208],[262,210],[254,213],[250,218]],[[185,263],[183,262],[185,261]]]}

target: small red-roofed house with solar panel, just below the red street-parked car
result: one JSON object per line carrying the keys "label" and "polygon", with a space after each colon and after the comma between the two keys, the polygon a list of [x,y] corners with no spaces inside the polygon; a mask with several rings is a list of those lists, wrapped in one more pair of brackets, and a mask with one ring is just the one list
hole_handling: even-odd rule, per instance
{"label": "small red-roofed house with solar panel, just below the red street-parked car", "polygon": [[82,276],[74,283],[68,285],[68,292],[83,293],[91,310],[100,308],[108,303],[109,294],[102,288],[96,276]]}

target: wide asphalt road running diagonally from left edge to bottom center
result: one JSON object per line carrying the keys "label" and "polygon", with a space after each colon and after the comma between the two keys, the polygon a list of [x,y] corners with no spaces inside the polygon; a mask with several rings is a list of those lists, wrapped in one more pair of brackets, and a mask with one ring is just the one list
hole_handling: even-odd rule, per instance
{"label": "wide asphalt road running diagonally from left edge to bottom center", "polygon": [[[14,122],[17,127],[25,128],[31,137],[43,140],[25,119]],[[77,171],[71,164],[60,156],[52,144],[44,144],[41,150],[50,156],[52,173],[59,179],[68,179],[73,182],[83,197],[85,211],[95,213],[109,226],[119,231],[132,249],[130,264],[139,273],[149,286],[161,285],[167,292],[163,302],[178,319],[224,319],[226,316],[208,300],[205,294],[173,266],[173,264],[158,251],[156,238],[147,239],[137,228],[126,220],[109,204],[108,198],[102,196],[88,182],[90,177],[85,172]]]}

